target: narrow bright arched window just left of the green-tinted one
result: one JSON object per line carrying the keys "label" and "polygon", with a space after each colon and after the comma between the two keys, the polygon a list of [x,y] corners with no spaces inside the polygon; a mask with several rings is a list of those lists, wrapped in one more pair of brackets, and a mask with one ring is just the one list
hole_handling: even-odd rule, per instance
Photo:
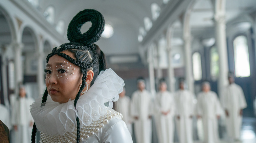
{"label": "narrow bright arched window just left of the green-tinted one", "polygon": [[202,63],[201,63],[201,54],[195,52],[192,55],[192,65],[193,65],[193,76],[194,80],[202,79]]}

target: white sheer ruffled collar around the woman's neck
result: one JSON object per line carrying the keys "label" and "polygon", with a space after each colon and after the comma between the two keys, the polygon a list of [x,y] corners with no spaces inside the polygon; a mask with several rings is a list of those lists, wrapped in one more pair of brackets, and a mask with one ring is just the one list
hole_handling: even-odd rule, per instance
{"label": "white sheer ruffled collar around the woman's neck", "polygon": [[59,104],[48,95],[46,103],[41,98],[32,105],[30,112],[39,131],[52,135],[64,135],[76,128],[76,115],[80,126],[88,126],[106,114],[106,107],[112,108],[118,100],[124,81],[112,70],[101,71],[87,93],[80,96],[76,109],[74,100]]}

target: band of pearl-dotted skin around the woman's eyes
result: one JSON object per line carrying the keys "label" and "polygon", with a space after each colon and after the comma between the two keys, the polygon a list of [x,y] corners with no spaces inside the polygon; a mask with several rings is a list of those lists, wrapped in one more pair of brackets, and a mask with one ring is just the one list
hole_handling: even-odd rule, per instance
{"label": "band of pearl-dotted skin around the woman's eyes", "polygon": [[[56,69],[55,69],[56,68]],[[50,78],[52,75],[55,76],[57,79],[69,79],[69,76],[74,75],[75,68],[72,68],[72,65],[69,62],[63,61],[63,63],[56,63],[54,68],[54,72],[51,66],[47,66],[45,69],[46,78]],[[54,74],[56,73],[56,74]]]}

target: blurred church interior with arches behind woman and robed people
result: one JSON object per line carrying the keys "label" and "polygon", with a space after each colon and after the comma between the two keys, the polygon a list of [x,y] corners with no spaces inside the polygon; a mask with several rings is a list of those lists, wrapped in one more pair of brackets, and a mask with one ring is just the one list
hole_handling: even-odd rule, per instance
{"label": "blurred church interior with arches behind woman and robed people", "polygon": [[[174,92],[184,77],[195,95],[207,80],[221,97],[232,71],[248,105],[241,138],[255,139],[255,0],[1,0],[0,93],[9,110],[20,85],[33,99],[44,93],[46,56],[68,42],[69,22],[86,8],[105,18],[96,44],[124,80],[127,96],[137,90],[138,77],[153,95],[161,78]],[[154,131],[152,137],[157,142]]]}

